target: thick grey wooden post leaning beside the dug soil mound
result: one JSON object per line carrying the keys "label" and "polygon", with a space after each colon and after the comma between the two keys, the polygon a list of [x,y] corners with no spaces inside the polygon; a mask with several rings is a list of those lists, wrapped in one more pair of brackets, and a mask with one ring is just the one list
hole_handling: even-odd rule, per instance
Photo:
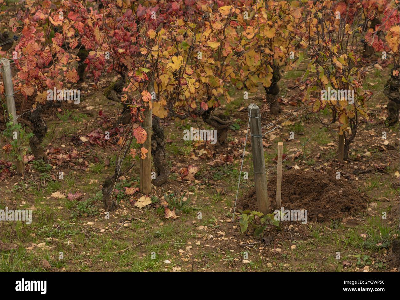
{"label": "thick grey wooden post leaning beside the dug soil mound", "polygon": [[256,184],[256,197],[258,210],[269,213],[267,178],[265,173],[264,149],[262,147],[261,114],[260,108],[253,104],[248,106],[250,115],[250,133],[253,152],[254,182]]}

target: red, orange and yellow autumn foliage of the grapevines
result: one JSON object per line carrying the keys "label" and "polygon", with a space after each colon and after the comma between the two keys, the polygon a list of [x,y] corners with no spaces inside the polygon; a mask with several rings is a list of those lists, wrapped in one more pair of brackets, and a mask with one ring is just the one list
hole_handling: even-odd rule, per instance
{"label": "red, orange and yellow autumn foliage of the grapevines", "polygon": [[[312,84],[302,101],[314,112],[328,107],[339,133],[352,136],[360,117],[368,119],[360,49],[398,59],[397,8],[398,1],[27,1],[9,21],[19,39],[2,55],[14,59],[15,91],[33,108],[46,103],[48,89],[83,80],[82,64],[90,84],[119,74],[138,143],[147,106],[159,118],[207,120],[231,101],[233,87],[276,97],[279,72],[308,57],[303,78]],[[321,101],[328,87],[354,89],[355,103]]]}

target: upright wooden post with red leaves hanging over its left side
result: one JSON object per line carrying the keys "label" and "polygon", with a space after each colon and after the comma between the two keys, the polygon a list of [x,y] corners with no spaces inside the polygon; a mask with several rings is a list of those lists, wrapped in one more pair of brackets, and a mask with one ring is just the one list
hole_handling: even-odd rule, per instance
{"label": "upright wooden post with red leaves hanging over its left side", "polygon": [[[150,81],[147,91],[152,94],[154,92],[154,81]],[[153,99],[152,99],[153,100]],[[151,101],[152,101],[151,100]],[[146,107],[144,111],[144,120],[142,127],[147,132],[147,139],[141,147],[147,149],[146,158],[140,159],[140,191],[145,195],[151,191],[151,127],[152,127],[152,109]]]}

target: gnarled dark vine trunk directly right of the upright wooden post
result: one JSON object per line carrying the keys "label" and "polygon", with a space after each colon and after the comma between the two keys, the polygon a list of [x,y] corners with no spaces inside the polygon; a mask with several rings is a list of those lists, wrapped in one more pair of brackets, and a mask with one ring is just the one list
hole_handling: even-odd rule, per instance
{"label": "gnarled dark vine trunk directly right of the upright wooden post", "polygon": [[164,128],[160,127],[160,118],[154,117],[152,120],[152,150],[154,167],[157,177],[153,179],[153,185],[160,186],[167,182],[170,175],[170,168],[166,161]]}

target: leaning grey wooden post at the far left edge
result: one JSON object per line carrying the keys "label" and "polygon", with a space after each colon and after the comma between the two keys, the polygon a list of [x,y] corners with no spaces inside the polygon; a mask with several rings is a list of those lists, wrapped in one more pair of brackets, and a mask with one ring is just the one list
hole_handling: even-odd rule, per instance
{"label": "leaning grey wooden post at the far left edge", "polygon": [[[14,123],[14,125],[18,125],[17,113],[15,110],[14,87],[12,86],[10,61],[7,58],[2,58],[0,60],[0,64],[3,65],[3,67],[1,68],[1,74],[3,77],[3,83],[4,83],[4,96],[6,97],[6,102],[7,102],[7,112],[8,112],[8,115],[12,116],[12,123]],[[24,171],[25,171],[24,156],[18,150],[20,145],[21,145],[20,144],[20,133],[18,131],[17,132],[17,145],[16,145],[16,147],[14,147],[14,152],[17,153],[15,155],[15,165],[17,168],[17,174],[24,175]],[[18,159],[18,156],[21,159]]]}

